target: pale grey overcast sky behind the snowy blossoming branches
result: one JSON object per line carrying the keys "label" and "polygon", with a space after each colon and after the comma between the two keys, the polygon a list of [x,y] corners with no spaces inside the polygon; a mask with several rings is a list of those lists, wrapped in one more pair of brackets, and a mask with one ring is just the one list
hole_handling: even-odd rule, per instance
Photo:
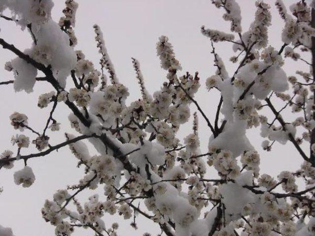
{"label": "pale grey overcast sky behind the snowy blossoming branches", "polygon": [[[204,83],[207,77],[215,73],[215,67],[213,66],[213,55],[210,54],[210,41],[201,35],[200,27],[205,25],[206,28],[228,31],[229,23],[221,18],[223,10],[215,8],[211,4],[211,0],[77,0],[77,2],[79,2],[79,8],[75,28],[78,38],[76,49],[81,49],[86,58],[98,66],[99,55],[95,47],[93,30],[93,25],[98,24],[104,33],[105,44],[118,78],[129,88],[128,101],[135,100],[140,95],[131,57],[140,61],[145,84],[151,93],[165,81],[165,72],[159,67],[159,59],[156,56],[156,42],[160,35],[167,35],[174,46],[176,57],[182,64],[183,72],[199,71],[202,88],[196,98],[207,116],[214,120],[219,97],[215,92],[209,93],[204,88]],[[253,20],[254,0],[238,0],[238,2],[242,9],[242,27],[246,31]],[[284,23],[273,5],[274,0],[265,2],[272,5],[273,15],[273,26],[269,30],[269,43],[279,50],[282,45],[281,30]],[[293,2],[293,0],[285,0],[287,6]],[[52,16],[57,22],[62,16],[63,7],[63,0],[55,0]],[[6,13],[8,14],[8,12]],[[6,22],[3,19],[0,19],[0,29],[0,37],[13,43],[22,51],[31,46],[32,41],[27,30],[21,31],[14,23]],[[225,61],[233,56],[231,46],[229,43],[216,45],[217,53]],[[12,53],[0,49],[0,65],[4,65],[6,61],[13,58]],[[226,62],[226,67],[232,74],[236,65]],[[293,75],[297,69],[307,69],[304,65],[294,63],[290,59],[287,60],[284,68],[287,75]],[[12,73],[0,70],[0,81],[12,79]],[[68,82],[71,83],[71,81]],[[68,84],[70,85],[70,83]],[[30,126],[42,130],[50,108],[39,109],[37,99],[39,94],[51,90],[53,88],[44,82],[37,82],[34,92],[31,94],[15,93],[11,85],[0,87],[1,152],[4,149],[16,151],[10,143],[10,138],[18,132],[9,124],[8,119],[14,111],[25,113],[29,117]],[[190,107],[191,113],[196,111],[193,105]],[[69,111],[66,107],[59,104],[55,118],[62,123],[63,129],[57,134],[51,135],[51,145],[63,142],[64,132],[74,132],[69,128],[68,114]],[[292,120],[290,109],[284,114],[284,118],[288,121]],[[199,131],[201,148],[203,152],[206,152],[211,133],[201,116],[199,116],[199,120],[201,123]],[[183,126],[179,131],[179,137],[183,138],[189,134],[190,128],[190,124]],[[298,169],[302,158],[290,143],[286,146],[277,144],[273,147],[272,152],[264,152],[260,147],[263,139],[259,137],[259,130],[251,130],[248,135],[253,146],[260,152],[261,173],[277,176],[281,170]],[[33,136],[31,137],[33,138]],[[35,150],[30,148],[23,153],[27,154],[29,151]],[[23,167],[22,161],[15,163],[12,170],[1,169],[0,186],[3,186],[4,191],[0,194],[0,225],[11,227],[16,236],[54,235],[54,227],[44,222],[40,209],[45,199],[52,199],[56,190],[65,188],[68,184],[76,184],[79,178],[83,177],[83,170],[76,169],[76,163],[77,159],[68,148],[62,148],[48,156],[30,160],[28,164],[36,176],[36,180],[30,188],[22,188],[13,182],[13,173]],[[99,193],[102,194],[102,191]],[[90,191],[83,192],[79,199],[86,201],[91,194]],[[105,201],[105,196],[101,198]],[[113,217],[108,214],[104,216],[104,219],[106,227],[110,227],[113,221],[123,221],[123,217]],[[158,228],[145,219],[138,222],[139,230],[137,231],[128,226],[129,221],[120,224],[120,235],[140,236],[144,232],[152,232],[152,235],[159,233]],[[92,232],[76,230],[74,235],[87,236],[92,235]]]}

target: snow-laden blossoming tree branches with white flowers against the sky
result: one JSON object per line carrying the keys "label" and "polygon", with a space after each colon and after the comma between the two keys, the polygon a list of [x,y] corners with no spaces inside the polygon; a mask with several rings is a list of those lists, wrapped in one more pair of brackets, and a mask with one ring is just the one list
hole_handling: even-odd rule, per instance
{"label": "snow-laden blossoming tree branches with white flowers against the sky", "polygon": [[[50,0],[0,3],[0,11],[8,8],[12,19],[22,29],[27,27],[33,39],[32,47],[22,53],[24,58],[5,64],[5,69],[14,73],[15,90],[31,92],[36,80],[46,80],[56,89],[38,97],[39,108],[51,109],[43,132],[30,127],[25,114],[15,112],[9,117],[15,130],[32,136],[19,133],[12,137],[17,151],[1,152],[0,169],[12,169],[15,161],[23,159],[25,167],[14,173],[14,181],[30,187],[35,175],[28,159],[64,146],[77,158],[77,167],[84,168],[76,184],[57,190],[41,210],[45,221],[55,227],[56,236],[70,236],[78,227],[96,235],[117,236],[118,224],[107,225],[107,214],[131,221],[135,230],[142,215],[168,236],[314,235],[313,71],[299,68],[296,76],[287,76],[284,71],[286,59],[308,63],[303,53],[312,50],[311,37],[315,35],[309,23],[311,8],[300,1],[289,7],[290,15],[283,1],[275,1],[284,20],[284,45],[277,50],[268,45],[271,7],[267,3],[255,2],[254,21],[242,33],[237,1],[212,2],[225,10],[223,18],[231,22],[232,32],[201,28],[211,40],[216,67],[204,80],[205,86],[209,92],[221,94],[214,120],[195,100],[201,80],[198,72],[180,74],[182,66],[167,36],[160,36],[156,46],[160,66],[167,73],[165,82],[151,95],[140,62],[132,58],[142,96],[130,102],[129,90],[117,78],[99,26],[93,26],[99,70],[75,48],[78,4],[74,0],[65,0],[59,24],[51,19]],[[221,41],[233,44],[237,53],[230,59],[239,63],[233,74],[216,52],[214,43]],[[299,47],[301,52],[297,53]],[[36,78],[38,70],[45,79]],[[70,83],[65,87],[67,80]],[[274,106],[274,99],[283,107]],[[50,132],[63,128],[54,116],[61,103],[71,110],[68,119],[76,135],[65,133],[65,141],[52,146]],[[192,130],[184,128],[184,138],[178,137],[181,126],[187,127],[192,105],[207,123],[201,128],[211,132],[205,153],[197,113],[192,116]],[[291,122],[281,114],[287,107],[297,115]],[[258,126],[265,139],[262,149],[270,151],[273,145],[287,143],[297,148],[304,159],[298,170],[281,170],[277,177],[261,173],[262,157],[247,137],[248,129]],[[310,143],[310,156],[300,146],[303,142]],[[30,144],[38,152],[25,155]],[[211,171],[217,177],[210,178]],[[305,190],[298,186],[299,180],[304,181]],[[86,189],[98,194],[81,202],[77,197]],[[0,235],[13,234],[0,226]]]}

